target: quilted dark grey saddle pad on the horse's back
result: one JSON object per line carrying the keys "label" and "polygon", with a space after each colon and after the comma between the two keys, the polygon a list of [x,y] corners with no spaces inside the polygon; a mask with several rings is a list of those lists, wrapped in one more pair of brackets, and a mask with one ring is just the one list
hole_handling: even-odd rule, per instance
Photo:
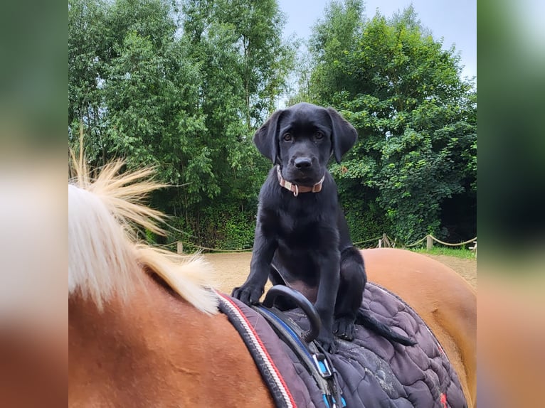
{"label": "quilted dark grey saddle pad on the horse's back", "polygon": [[[263,352],[258,358],[255,350],[254,360],[270,386],[277,405],[327,407],[312,375],[295,353],[279,340],[265,319],[238,300],[222,296],[245,315],[245,324],[259,338],[254,343],[260,343],[265,348],[268,355],[265,360],[270,358],[270,362],[264,364]],[[362,326],[356,326],[353,341],[337,338],[337,353],[329,355],[329,358],[337,370],[347,408],[467,407],[460,381],[443,348],[410,306],[372,283],[366,285],[361,306],[418,344],[392,344]],[[307,328],[307,318],[299,309],[285,314],[302,328]],[[232,316],[229,318],[231,321],[236,319]],[[245,343],[248,345],[247,339]],[[248,345],[248,348],[252,351],[255,346]],[[280,377],[280,380],[271,382],[271,377]],[[281,398],[278,397],[280,389]]]}

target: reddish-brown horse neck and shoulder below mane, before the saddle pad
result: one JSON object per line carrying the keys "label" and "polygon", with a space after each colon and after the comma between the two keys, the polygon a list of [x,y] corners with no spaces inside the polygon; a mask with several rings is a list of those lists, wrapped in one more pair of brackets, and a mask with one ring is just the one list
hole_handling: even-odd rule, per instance
{"label": "reddish-brown horse neck and shoulder below mane, before the saddle pad", "polygon": [[144,283],[102,313],[71,299],[70,404],[274,406],[225,315],[198,311],[152,278]]}

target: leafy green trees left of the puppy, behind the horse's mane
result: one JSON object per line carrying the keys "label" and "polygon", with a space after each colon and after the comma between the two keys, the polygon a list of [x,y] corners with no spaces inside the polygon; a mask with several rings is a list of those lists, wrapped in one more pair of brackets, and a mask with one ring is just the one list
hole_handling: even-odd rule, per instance
{"label": "leafy green trees left of the puppy, behind the horse's mane", "polygon": [[70,0],[68,27],[70,143],[83,127],[95,166],[114,156],[156,166],[179,187],[153,204],[190,241],[251,246],[268,169],[251,136],[294,58],[277,3]]}

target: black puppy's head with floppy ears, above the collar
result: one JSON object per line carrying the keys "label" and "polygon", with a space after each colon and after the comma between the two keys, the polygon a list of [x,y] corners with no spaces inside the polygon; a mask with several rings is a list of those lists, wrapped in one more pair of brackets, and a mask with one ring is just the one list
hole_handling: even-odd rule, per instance
{"label": "black puppy's head with floppy ears, above the collar", "polygon": [[263,156],[280,164],[287,181],[312,186],[324,176],[332,154],[340,163],[356,137],[356,129],[335,109],[302,102],[273,113],[253,141]]}

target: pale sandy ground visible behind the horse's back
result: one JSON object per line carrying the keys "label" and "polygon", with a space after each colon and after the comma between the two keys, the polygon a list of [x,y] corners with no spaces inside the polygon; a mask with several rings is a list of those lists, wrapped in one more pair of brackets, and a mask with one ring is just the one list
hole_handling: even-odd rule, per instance
{"label": "pale sandy ground visible behind the horse's back", "polygon": [[[447,265],[464,277],[475,289],[477,289],[477,260],[448,257],[446,255],[427,255]],[[216,273],[214,280],[216,287],[221,291],[231,294],[235,286],[244,283],[250,272],[251,252],[229,252],[226,254],[204,254],[204,257],[212,264]],[[268,286],[265,286],[265,290]]]}

